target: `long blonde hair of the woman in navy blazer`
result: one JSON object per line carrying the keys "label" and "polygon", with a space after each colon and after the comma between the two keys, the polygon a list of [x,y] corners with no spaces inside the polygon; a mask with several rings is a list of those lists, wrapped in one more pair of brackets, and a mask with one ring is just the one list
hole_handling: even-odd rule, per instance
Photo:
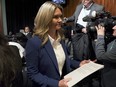
{"label": "long blonde hair of the woman in navy blazer", "polygon": [[[39,36],[42,39],[42,45],[48,41],[49,25],[53,19],[55,10],[59,8],[62,12],[63,9],[60,5],[51,1],[45,2],[39,9],[34,20],[34,35]],[[58,30],[61,38],[64,38],[62,29]]]}

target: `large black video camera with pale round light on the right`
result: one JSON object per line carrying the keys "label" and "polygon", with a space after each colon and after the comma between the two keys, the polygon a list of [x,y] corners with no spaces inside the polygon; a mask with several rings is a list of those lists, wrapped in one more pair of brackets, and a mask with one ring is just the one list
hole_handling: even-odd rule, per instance
{"label": "large black video camera with pale round light on the right", "polygon": [[[116,25],[116,17],[111,16],[110,12],[106,11],[93,11],[91,16],[84,17],[83,21],[88,22],[87,32],[90,33],[90,35],[96,33],[95,26],[98,24],[104,26],[106,38],[112,37],[112,27]],[[94,34],[94,38],[96,38],[96,36]]]}

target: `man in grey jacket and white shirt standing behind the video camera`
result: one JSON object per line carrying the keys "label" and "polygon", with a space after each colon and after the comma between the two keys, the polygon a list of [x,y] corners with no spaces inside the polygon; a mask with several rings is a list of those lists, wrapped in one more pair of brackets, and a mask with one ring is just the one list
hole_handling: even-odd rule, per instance
{"label": "man in grey jacket and white shirt standing behind the video camera", "polygon": [[87,33],[87,22],[83,21],[86,16],[92,16],[92,12],[103,11],[104,7],[94,2],[94,0],[81,0],[81,4],[77,5],[74,14],[66,19],[66,22],[74,22],[78,24],[78,32]]}

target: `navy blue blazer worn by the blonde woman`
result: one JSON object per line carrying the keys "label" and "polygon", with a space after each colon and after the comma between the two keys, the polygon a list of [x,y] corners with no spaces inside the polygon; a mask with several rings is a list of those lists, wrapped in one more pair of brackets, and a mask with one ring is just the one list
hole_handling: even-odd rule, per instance
{"label": "navy blue blazer worn by the blonde woman", "polygon": [[[26,63],[29,78],[33,81],[33,87],[58,87],[62,78],[58,70],[56,56],[50,41],[41,47],[41,39],[34,36],[26,45]],[[63,68],[63,76],[70,72],[70,60],[64,43],[61,41],[66,60]]]}

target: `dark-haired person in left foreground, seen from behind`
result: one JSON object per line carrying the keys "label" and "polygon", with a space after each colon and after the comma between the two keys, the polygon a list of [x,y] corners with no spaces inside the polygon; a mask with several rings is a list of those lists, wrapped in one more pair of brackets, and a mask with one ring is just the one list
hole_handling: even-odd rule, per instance
{"label": "dark-haired person in left foreground, seen from behind", "polygon": [[23,87],[22,60],[16,46],[0,34],[0,87]]}

